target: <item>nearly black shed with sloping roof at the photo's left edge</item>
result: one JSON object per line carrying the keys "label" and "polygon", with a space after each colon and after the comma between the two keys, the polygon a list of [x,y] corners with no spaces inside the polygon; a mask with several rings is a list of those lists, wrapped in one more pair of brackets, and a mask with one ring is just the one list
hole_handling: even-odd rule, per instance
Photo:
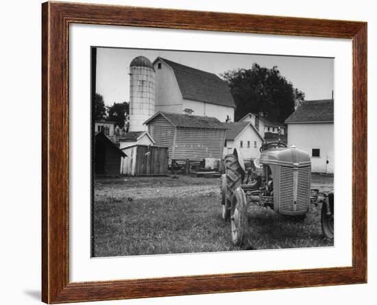
{"label": "nearly black shed with sloping roof at the photo's left edge", "polygon": [[95,174],[117,176],[121,173],[121,159],[127,155],[114,145],[104,132],[95,134]]}

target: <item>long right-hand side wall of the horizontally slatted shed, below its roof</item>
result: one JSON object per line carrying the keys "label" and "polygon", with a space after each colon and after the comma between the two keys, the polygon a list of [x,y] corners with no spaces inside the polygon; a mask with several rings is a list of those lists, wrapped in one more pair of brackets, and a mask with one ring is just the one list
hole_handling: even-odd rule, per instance
{"label": "long right-hand side wall of the horizontally slatted shed, below its roof", "polygon": [[224,141],[225,130],[178,128],[173,159],[221,158]]}

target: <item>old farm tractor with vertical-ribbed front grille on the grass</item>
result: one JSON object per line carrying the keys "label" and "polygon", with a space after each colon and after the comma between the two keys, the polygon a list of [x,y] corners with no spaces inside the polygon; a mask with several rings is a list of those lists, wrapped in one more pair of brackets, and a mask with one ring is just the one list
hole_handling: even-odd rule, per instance
{"label": "old farm tractor with vertical-ribbed front grille on the grass", "polygon": [[221,217],[228,221],[232,243],[241,247],[245,239],[247,208],[256,204],[281,215],[304,221],[310,204],[322,204],[321,228],[334,238],[334,192],[311,189],[311,158],[294,145],[278,141],[263,143],[260,156],[245,168],[239,149],[226,156],[221,175]]}

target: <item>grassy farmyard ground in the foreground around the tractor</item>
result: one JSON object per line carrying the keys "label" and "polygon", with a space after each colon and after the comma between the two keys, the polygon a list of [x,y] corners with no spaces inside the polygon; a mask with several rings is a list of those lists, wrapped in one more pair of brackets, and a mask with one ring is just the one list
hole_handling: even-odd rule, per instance
{"label": "grassy farmyard ground in the foreground around the tractor", "polygon": [[[312,175],[329,191],[333,177]],[[243,247],[221,219],[219,179],[167,176],[95,180],[94,255],[127,256],[332,246],[321,235],[320,206],[303,222],[251,206]]]}

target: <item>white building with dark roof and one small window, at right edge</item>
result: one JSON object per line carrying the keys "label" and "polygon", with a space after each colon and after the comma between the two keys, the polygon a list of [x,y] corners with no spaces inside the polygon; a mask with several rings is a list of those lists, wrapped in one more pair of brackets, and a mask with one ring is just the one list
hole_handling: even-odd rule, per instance
{"label": "white building with dark roof and one small window, at right edge", "polygon": [[334,99],[305,101],[285,123],[288,145],[311,154],[312,171],[334,173]]}

